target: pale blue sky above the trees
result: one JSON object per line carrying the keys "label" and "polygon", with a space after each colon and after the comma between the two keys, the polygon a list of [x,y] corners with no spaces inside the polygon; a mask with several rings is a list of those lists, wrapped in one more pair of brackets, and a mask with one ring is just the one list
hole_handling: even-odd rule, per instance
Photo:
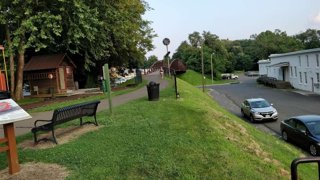
{"label": "pale blue sky above the trees", "polygon": [[159,60],[167,53],[162,40],[170,39],[170,56],[193,31],[210,31],[220,39],[246,39],[262,31],[280,29],[294,35],[320,29],[320,0],[146,0],[154,9],[143,18],[153,21],[158,34],[147,53]]}

